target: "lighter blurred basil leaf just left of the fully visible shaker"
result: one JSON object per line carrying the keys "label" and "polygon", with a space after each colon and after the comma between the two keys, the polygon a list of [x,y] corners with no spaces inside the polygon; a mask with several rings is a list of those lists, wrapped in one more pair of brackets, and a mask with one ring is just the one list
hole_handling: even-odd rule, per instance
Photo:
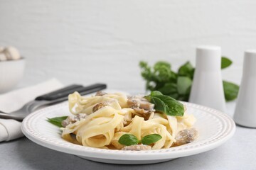
{"label": "lighter blurred basil leaf just left of the fully visible shaker", "polygon": [[190,91],[188,91],[188,89],[191,88],[192,85],[192,80],[189,77],[178,77],[177,80],[177,90],[178,90],[178,94],[181,95],[186,95],[188,94]]}

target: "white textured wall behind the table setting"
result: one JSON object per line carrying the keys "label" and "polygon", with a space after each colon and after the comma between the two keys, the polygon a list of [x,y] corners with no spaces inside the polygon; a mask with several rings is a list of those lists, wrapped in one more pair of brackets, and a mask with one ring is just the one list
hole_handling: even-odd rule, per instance
{"label": "white textured wall behind the table setting", "polygon": [[243,51],[256,45],[255,9],[255,0],[0,0],[0,45],[26,57],[21,84],[56,77],[143,92],[139,60],[194,64],[197,45],[220,45],[234,62],[223,77],[240,83]]}

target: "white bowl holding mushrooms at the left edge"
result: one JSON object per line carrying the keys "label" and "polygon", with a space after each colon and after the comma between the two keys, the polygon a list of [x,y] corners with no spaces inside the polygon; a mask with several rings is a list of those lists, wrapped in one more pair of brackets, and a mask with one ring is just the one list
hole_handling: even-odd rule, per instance
{"label": "white bowl holding mushrooms at the left edge", "polygon": [[0,62],[0,94],[14,88],[23,77],[25,60],[7,60]]}

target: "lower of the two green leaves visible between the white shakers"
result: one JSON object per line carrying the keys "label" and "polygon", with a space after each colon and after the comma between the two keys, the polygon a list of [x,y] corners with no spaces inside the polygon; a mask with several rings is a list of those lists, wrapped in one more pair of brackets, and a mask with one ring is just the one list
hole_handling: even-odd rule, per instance
{"label": "lower of the two green leaves visible between the white shakers", "polygon": [[233,101],[238,97],[239,86],[228,81],[223,81],[223,89],[226,101]]}

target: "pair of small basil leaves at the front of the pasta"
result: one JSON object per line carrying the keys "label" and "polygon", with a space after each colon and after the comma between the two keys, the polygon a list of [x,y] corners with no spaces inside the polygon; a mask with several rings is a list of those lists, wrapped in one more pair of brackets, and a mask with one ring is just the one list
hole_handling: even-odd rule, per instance
{"label": "pair of small basil leaves at the front of the pasta", "polygon": [[161,138],[162,138],[161,135],[151,134],[151,135],[146,135],[142,137],[142,140],[139,141],[136,136],[127,133],[122,135],[119,138],[118,142],[125,146],[137,145],[139,143],[142,143],[143,145],[151,145],[154,142],[161,140]]}

